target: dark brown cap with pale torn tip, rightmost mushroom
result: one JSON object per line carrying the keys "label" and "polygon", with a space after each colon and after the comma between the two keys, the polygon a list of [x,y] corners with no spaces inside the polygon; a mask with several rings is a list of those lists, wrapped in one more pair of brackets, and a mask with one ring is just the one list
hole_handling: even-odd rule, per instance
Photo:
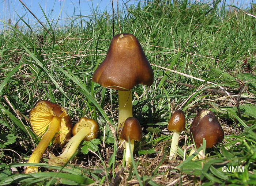
{"label": "dark brown cap with pale torn tip, rightmost mushroom", "polygon": [[193,135],[197,148],[203,143],[203,138],[206,140],[206,148],[211,148],[224,139],[224,132],[217,117],[207,109],[200,110],[196,115],[189,134],[191,139]]}

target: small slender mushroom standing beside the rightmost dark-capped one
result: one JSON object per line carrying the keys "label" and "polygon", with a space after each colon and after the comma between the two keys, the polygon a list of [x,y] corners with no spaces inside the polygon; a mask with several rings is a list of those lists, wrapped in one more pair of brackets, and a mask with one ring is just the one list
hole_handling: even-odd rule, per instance
{"label": "small slender mushroom standing beside the rightmost dark-capped one", "polygon": [[172,144],[170,149],[170,159],[177,155],[180,132],[185,129],[185,115],[181,110],[177,110],[170,118],[167,128],[173,131]]}

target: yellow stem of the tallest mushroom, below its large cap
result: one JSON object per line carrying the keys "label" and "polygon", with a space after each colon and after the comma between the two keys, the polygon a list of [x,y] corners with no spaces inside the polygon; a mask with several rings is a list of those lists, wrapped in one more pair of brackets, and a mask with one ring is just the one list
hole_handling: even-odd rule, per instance
{"label": "yellow stem of the tallest mushroom, below its large cap", "polygon": [[132,93],[129,91],[118,90],[118,133],[120,128],[124,126],[124,121],[128,117],[132,117]]}

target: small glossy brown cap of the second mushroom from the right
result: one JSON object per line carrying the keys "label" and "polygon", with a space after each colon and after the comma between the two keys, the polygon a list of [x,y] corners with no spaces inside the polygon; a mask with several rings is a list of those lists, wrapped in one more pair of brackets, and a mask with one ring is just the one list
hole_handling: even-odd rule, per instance
{"label": "small glossy brown cap of the second mushroom from the right", "polygon": [[185,129],[185,115],[181,110],[177,110],[170,118],[167,128],[169,131],[181,132]]}

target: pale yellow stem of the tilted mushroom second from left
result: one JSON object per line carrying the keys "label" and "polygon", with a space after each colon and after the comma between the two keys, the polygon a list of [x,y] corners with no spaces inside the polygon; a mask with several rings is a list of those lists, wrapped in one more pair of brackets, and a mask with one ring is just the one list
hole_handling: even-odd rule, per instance
{"label": "pale yellow stem of the tilted mushroom second from left", "polygon": [[53,166],[63,166],[67,161],[75,154],[78,149],[79,144],[82,142],[84,137],[86,137],[91,132],[90,127],[83,127],[73,136],[67,143],[65,150],[59,156],[54,156],[54,154],[49,154],[48,164]]}

